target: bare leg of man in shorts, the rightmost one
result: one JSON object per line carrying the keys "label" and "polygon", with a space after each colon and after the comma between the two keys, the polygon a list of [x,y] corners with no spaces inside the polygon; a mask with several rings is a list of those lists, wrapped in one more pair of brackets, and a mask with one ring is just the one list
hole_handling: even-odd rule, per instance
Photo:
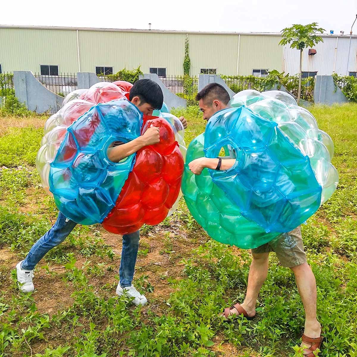
{"label": "bare leg of man in shorts, the rightmost one", "polygon": [[304,333],[308,337],[320,337],[321,325],[316,318],[317,292],[315,276],[306,262],[296,267],[292,267],[291,270],[295,275],[297,289],[305,309]]}

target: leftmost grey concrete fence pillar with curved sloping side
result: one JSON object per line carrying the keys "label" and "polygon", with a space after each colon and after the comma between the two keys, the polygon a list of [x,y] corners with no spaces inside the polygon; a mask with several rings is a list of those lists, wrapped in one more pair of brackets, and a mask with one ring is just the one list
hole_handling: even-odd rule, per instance
{"label": "leftmost grey concrete fence pillar with curved sloping side", "polygon": [[31,71],[14,71],[15,95],[27,109],[38,114],[56,112],[63,103],[63,97],[48,90]]}

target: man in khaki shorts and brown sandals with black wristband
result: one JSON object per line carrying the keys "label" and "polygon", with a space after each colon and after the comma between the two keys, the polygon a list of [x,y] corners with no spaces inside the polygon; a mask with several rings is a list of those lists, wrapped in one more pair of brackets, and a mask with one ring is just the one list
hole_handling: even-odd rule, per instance
{"label": "man in khaki shorts and brown sandals with black wristband", "polygon": [[[197,94],[196,100],[203,112],[203,119],[208,121],[216,112],[228,107],[227,104],[230,97],[221,85],[211,83]],[[223,158],[210,159],[200,157],[191,161],[188,166],[195,175],[200,175],[205,167],[212,170],[217,170],[217,167],[220,170],[228,170],[236,161],[233,154],[234,152],[230,152],[232,158],[229,157],[225,160],[221,160]],[[245,300],[241,304],[236,303],[232,307],[226,307],[221,316],[227,318],[232,315],[243,315],[247,320],[252,320],[255,316],[258,293],[268,274],[270,252],[275,252],[281,265],[290,268],[295,275],[306,317],[301,343],[301,346],[305,347],[303,355],[305,357],[315,357],[314,351],[320,347],[322,342],[321,325],[316,318],[316,281],[306,261],[300,226],[291,232],[279,235],[260,247],[252,249],[253,259],[249,270]]]}

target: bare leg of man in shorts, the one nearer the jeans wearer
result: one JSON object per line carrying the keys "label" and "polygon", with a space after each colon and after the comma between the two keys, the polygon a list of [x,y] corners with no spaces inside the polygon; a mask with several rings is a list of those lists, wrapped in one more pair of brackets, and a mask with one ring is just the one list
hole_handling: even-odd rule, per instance
{"label": "bare leg of man in shorts, the one nearer the jeans wearer", "polygon": [[[253,253],[253,260],[248,275],[248,286],[245,300],[240,305],[248,316],[255,315],[255,304],[257,302],[260,288],[268,274],[269,253]],[[236,308],[231,310],[232,314],[238,314]]]}

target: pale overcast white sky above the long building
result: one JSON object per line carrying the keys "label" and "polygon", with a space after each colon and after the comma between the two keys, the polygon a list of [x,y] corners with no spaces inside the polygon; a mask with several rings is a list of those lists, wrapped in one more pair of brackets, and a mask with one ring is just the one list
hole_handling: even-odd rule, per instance
{"label": "pale overcast white sky above the long building", "polygon": [[[3,1],[1,25],[46,25],[184,31],[278,32],[318,22],[350,33],[357,0]],[[357,21],[353,27],[357,34]]]}

